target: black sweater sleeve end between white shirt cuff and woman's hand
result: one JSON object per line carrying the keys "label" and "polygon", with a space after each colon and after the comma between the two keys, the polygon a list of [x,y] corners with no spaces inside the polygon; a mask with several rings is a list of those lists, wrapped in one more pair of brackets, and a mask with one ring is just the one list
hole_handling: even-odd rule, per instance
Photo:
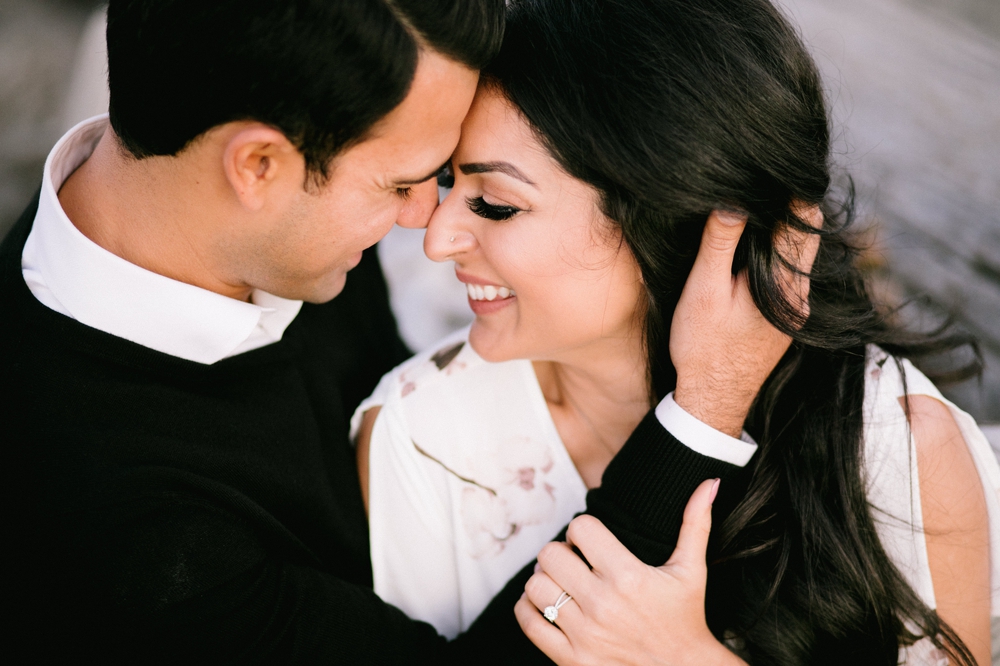
{"label": "black sweater sleeve end between white shirt cuff and woman's hand", "polygon": [[587,513],[639,559],[661,565],[677,545],[684,507],[695,488],[705,479],[725,484],[742,469],[688,448],[651,411],[608,465],[601,487],[587,494]]}

